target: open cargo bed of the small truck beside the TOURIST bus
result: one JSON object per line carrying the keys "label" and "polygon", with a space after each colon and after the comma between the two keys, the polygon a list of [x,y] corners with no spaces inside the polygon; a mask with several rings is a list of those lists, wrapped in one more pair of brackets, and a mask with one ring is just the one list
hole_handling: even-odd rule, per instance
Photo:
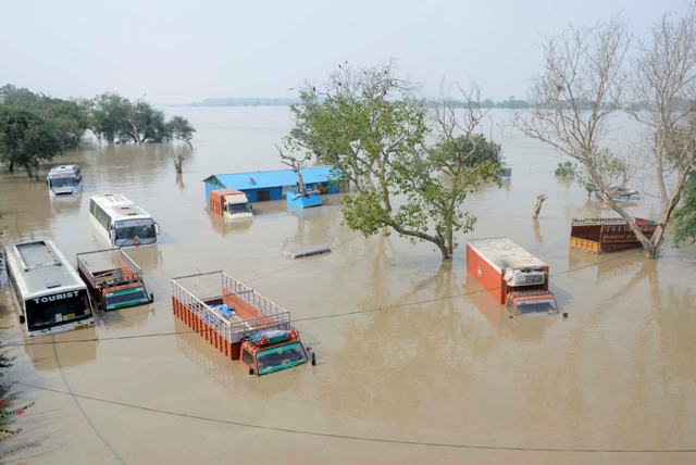
{"label": "open cargo bed of the small truck beside the TOURIST bus", "polygon": [[[88,259],[99,260],[99,255],[111,267],[90,269]],[[104,249],[77,254],[77,268],[94,288],[114,286],[124,282],[142,281],[142,271],[123,249]]]}

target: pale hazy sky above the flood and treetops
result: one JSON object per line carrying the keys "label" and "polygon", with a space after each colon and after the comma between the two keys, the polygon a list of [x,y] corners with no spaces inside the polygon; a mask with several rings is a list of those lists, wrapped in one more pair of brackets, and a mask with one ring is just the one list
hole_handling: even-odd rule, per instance
{"label": "pale hazy sky above the flood and treetops", "polygon": [[55,97],[113,90],[158,103],[294,97],[338,63],[391,59],[437,93],[443,76],[483,97],[526,95],[544,37],[617,13],[645,36],[686,0],[7,1],[0,85]]}

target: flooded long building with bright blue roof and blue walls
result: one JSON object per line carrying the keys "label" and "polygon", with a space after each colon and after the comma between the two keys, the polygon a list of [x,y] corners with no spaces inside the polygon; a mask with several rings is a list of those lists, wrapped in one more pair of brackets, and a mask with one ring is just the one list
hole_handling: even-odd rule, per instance
{"label": "flooded long building with bright blue roof and blue walls", "polygon": [[[328,193],[340,189],[332,176],[333,166],[311,166],[300,169],[308,190],[322,187]],[[273,169],[268,172],[233,173],[212,175],[203,179],[206,183],[206,199],[215,189],[235,189],[247,194],[249,202],[264,200],[282,200],[286,192],[294,192],[297,186],[297,175],[291,169]]]}

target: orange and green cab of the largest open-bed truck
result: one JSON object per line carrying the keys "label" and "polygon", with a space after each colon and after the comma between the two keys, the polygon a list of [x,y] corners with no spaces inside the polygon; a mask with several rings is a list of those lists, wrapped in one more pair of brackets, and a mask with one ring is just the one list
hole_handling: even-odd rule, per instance
{"label": "orange and green cab of the largest open-bed truck", "polygon": [[294,329],[266,329],[241,343],[239,363],[249,375],[263,376],[310,362],[316,364],[314,353],[306,348]]}

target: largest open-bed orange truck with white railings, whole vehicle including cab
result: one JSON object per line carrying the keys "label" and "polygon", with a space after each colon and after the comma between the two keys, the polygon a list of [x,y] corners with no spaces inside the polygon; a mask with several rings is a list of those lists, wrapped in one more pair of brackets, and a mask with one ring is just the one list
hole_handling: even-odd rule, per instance
{"label": "largest open-bed orange truck with white railings, whole vehicle including cab", "polygon": [[172,279],[172,301],[177,318],[250,375],[314,364],[290,313],[224,272]]}

